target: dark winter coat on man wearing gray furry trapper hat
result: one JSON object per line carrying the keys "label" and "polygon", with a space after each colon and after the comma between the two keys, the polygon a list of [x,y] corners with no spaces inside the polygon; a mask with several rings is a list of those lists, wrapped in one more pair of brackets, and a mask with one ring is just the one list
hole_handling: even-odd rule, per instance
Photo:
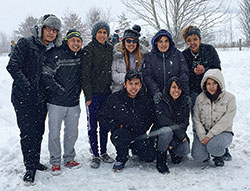
{"label": "dark winter coat on man wearing gray furry trapper hat", "polygon": [[35,28],[32,32],[32,36],[18,40],[7,65],[14,80],[11,94],[13,103],[36,103],[45,100],[40,79],[42,65],[50,50],[46,50]]}

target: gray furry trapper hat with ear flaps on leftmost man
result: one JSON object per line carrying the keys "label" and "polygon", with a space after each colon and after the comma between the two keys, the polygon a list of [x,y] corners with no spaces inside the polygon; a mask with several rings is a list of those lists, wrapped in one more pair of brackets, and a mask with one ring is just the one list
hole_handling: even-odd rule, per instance
{"label": "gray furry trapper hat with ear flaps on leftmost man", "polygon": [[48,26],[51,28],[55,28],[57,32],[57,38],[55,40],[55,45],[60,46],[62,44],[62,34],[61,34],[61,21],[53,14],[46,14],[42,16],[35,27],[37,27],[37,36],[38,38],[42,38],[42,29],[43,27]]}

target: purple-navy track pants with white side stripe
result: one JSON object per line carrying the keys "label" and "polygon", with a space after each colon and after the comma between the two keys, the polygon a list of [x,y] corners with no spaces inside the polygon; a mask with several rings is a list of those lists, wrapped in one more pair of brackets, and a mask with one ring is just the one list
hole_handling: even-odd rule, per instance
{"label": "purple-navy track pants with white side stripe", "polygon": [[[88,136],[89,136],[89,143],[92,153],[95,157],[99,156],[99,149],[98,149],[98,139],[97,139],[97,113],[106,100],[106,95],[98,95],[93,96],[91,104],[87,106],[87,115],[88,115]],[[106,153],[107,151],[107,138],[108,138],[108,131],[107,128],[104,127],[102,123],[99,122],[99,137],[100,137],[100,149],[101,154]]]}

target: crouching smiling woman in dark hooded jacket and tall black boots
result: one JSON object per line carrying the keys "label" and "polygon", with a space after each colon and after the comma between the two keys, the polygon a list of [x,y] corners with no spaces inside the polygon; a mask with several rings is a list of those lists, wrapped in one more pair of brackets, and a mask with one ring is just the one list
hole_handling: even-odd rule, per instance
{"label": "crouching smiling woman in dark hooded jacket and tall black boots", "polygon": [[190,152],[189,138],[186,134],[189,125],[189,110],[191,100],[183,93],[183,85],[178,77],[167,81],[162,99],[155,104],[157,132],[156,168],[160,173],[169,173],[166,165],[167,151],[171,161],[179,164]]}

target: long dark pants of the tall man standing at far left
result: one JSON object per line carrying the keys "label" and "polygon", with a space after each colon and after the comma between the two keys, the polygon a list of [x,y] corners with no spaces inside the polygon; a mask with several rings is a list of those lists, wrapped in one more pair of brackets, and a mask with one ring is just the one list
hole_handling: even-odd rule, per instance
{"label": "long dark pants of the tall man standing at far left", "polygon": [[21,149],[26,169],[35,169],[40,162],[41,143],[45,130],[45,102],[13,101],[20,129]]}

